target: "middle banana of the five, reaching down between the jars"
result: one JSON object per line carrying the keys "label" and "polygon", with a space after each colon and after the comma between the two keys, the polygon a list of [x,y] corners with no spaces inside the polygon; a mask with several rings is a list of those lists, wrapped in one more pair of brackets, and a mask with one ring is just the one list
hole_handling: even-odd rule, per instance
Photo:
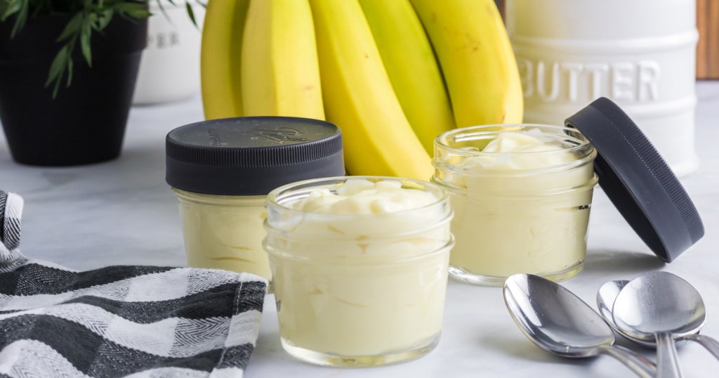
{"label": "middle banana of the five, reaching down between the jars", "polygon": [[342,129],[347,171],[429,179],[429,155],[402,112],[357,0],[310,5],[327,120]]}

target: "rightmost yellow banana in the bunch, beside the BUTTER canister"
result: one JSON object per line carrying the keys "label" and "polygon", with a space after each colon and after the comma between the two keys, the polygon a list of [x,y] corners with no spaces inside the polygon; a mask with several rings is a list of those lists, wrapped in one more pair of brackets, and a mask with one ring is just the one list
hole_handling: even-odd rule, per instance
{"label": "rightmost yellow banana in the bunch, beside the BUTTER canister", "polygon": [[521,82],[494,0],[411,0],[439,58],[458,127],[520,123]]}

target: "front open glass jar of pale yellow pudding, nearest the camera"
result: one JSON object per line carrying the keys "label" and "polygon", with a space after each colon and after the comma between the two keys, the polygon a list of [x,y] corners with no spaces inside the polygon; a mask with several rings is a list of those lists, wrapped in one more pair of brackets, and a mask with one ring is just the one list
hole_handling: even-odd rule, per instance
{"label": "front open glass jar of pale yellow pudding, nearest the camera", "polygon": [[[303,201],[309,206],[298,206]],[[329,366],[391,364],[431,351],[451,219],[446,191],[412,179],[335,177],[271,192],[264,246],[285,351]]]}

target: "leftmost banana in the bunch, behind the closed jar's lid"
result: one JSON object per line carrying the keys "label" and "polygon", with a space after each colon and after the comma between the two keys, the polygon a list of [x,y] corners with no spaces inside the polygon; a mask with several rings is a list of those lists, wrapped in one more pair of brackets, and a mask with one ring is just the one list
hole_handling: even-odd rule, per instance
{"label": "leftmost banana in the bunch, behind the closed jar's lid", "polygon": [[200,81],[207,120],[242,115],[239,64],[249,0],[209,0],[202,28]]}

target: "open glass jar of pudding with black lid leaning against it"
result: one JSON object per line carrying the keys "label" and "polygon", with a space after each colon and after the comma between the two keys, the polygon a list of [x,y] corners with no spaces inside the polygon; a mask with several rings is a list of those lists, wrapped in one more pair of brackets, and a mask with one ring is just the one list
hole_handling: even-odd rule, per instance
{"label": "open glass jar of pudding with black lid leaning against it", "polygon": [[596,151],[579,130],[486,125],[435,140],[432,181],[450,192],[449,273],[500,286],[516,273],[569,279],[587,253]]}

